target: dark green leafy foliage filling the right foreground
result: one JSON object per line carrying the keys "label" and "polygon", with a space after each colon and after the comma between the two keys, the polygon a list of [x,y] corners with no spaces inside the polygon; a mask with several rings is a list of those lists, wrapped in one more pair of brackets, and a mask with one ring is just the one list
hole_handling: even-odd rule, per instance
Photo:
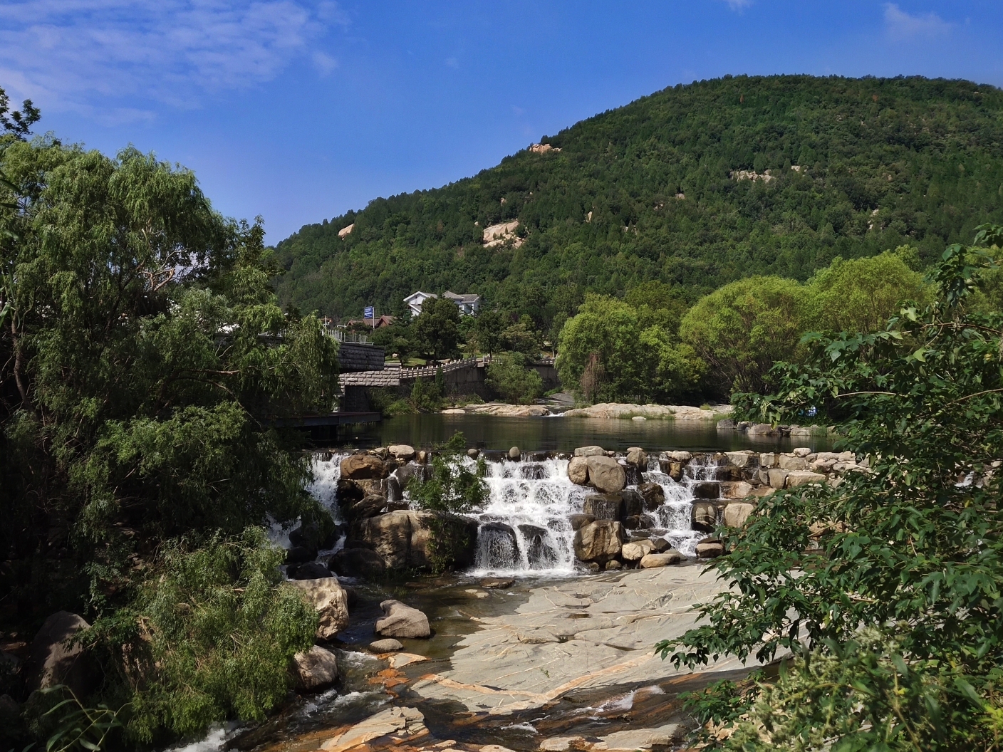
{"label": "dark green leafy foliage filling the right foreground", "polygon": [[[999,749],[1003,314],[966,303],[1001,234],[949,247],[929,306],[881,331],[809,336],[771,394],[735,396],[757,421],[815,408],[870,466],[761,499],[713,565],[731,589],[659,644],[686,666],[797,656],[724,748]],[[813,522],[827,533],[812,537]]]}

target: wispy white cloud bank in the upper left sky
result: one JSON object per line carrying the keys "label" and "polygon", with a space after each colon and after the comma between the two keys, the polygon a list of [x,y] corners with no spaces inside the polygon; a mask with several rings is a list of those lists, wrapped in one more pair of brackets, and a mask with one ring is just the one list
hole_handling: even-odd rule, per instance
{"label": "wispy white cloud bank in the upper left sky", "polygon": [[193,106],[304,55],[329,73],[337,60],[311,44],[347,23],[335,3],[314,0],[5,0],[0,86],[50,108],[145,119],[136,100]]}

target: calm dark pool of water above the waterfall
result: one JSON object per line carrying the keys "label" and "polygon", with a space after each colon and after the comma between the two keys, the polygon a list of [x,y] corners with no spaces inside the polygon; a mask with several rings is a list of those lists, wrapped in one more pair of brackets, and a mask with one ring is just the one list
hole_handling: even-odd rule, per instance
{"label": "calm dark pool of water above the waterfall", "polygon": [[604,449],[641,446],[648,451],[732,451],[758,449],[789,451],[807,446],[816,451],[832,447],[832,438],[748,437],[737,431],[718,431],[713,422],[676,420],[624,420],[620,418],[506,418],[494,415],[442,415],[425,413],[386,418],[379,423],[345,426],[342,446],[372,448],[388,444],[430,447],[462,431],[468,446],[508,450],[518,446],[528,451],[572,451],[577,446],[598,444]]}

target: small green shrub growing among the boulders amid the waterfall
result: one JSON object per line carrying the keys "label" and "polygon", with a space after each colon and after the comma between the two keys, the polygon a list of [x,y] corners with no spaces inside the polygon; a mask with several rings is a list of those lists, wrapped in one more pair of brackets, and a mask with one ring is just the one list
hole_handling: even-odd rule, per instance
{"label": "small green shrub growing among the boulders amid the waterfall", "polygon": [[465,446],[463,434],[456,431],[432,454],[430,477],[412,479],[407,486],[411,502],[431,512],[427,520],[431,530],[428,548],[435,574],[448,569],[455,560],[456,551],[469,542],[466,526],[456,515],[468,514],[487,498],[484,458],[479,457],[470,469],[462,454]]}

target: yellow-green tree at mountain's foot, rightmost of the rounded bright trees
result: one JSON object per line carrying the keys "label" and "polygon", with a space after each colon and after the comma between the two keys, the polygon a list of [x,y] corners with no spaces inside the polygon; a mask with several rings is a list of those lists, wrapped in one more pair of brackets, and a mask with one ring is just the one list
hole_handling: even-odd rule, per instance
{"label": "yellow-green tree at mountain's foot, rightmost of the rounded bright trees", "polygon": [[933,291],[923,275],[900,254],[886,251],[869,259],[833,259],[808,281],[813,326],[842,332],[874,332],[907,301],[925,306]]}

